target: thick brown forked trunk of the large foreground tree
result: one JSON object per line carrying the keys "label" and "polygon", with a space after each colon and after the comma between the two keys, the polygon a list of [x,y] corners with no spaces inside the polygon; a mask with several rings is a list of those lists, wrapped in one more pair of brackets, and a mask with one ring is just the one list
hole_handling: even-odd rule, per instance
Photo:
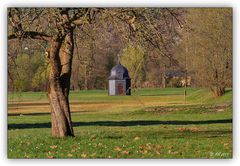
{"label": "thick brown forked trunk of the large foreground tree", "polygon": [[72,56],[73,31],[71,30],[64,39],[51,42],[48,96],[53,137],[74,136],[68,99]]}

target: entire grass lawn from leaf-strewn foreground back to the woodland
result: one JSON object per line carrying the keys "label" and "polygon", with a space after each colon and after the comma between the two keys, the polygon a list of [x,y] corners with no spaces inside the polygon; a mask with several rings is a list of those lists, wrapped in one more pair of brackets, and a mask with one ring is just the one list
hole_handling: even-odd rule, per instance
{"label": "entire grass lawn from leaf-strewn foreground back to the woodland", "polygon": [[9,158],[232,157],[230,89],[214,98],[189,88],[187,105],[181,88],[140,89],[132,96],[71,92],[75,137],[65,139],[51,138],[50,114],[37,111],[47,102],[42,94],[9,94]]}

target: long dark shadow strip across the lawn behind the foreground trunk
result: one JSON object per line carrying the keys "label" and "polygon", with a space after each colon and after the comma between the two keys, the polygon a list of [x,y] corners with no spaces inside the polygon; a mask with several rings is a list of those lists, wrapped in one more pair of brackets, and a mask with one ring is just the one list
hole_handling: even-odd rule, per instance
{"label": "long dark shadow strip across the lawn behind the foreground trunk", "polygon": [[[218,124],[232,123],[232,119],[205,120],[205,121],[96,121],[96,122],[73,122],[73,126],[150,126],[150,125],[202,125],[202,124]],[[22,123],[8,124],[8,129],[32,129],[32,128],[50,128],[51,123]]]}

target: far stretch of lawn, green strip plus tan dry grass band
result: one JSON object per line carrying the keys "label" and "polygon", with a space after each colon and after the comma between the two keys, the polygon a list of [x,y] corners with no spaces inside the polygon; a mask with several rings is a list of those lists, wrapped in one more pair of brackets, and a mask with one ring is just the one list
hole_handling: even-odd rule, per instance
{"label": "far stretch of lawn, green strip plus tan dry grass band", "polygon": [[[214,98],[207,89],[189,88],[187,104],[231,102],[232,91],[221,98]],[[139,89],[132,96],[108,96],[107,91],[91,90],[70,93],[72,112],[111,112],[135,110],[158,105],[184,104],[183,89]],[[9,114],[50,112],[45,92],[9,93]]]}

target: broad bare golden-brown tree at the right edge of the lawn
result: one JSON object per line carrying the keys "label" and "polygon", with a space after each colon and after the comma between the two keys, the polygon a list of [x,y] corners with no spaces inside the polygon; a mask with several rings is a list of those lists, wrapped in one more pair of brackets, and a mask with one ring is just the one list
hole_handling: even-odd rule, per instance
{"label": "broad bare golden-brown tree at the right edge of the lawn", "polygon": [[182,53],[198,86],[222,96],[232,82],[232,9],[189,9]]}

